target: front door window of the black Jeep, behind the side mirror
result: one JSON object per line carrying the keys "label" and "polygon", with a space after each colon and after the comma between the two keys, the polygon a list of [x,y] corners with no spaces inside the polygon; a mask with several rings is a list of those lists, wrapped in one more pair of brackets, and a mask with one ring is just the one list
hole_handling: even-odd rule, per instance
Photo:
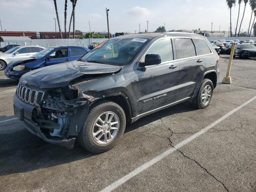
{"label": "front door window of the black Jeep, behind the side mirror", "polygon": [[[146,52],[146,54],[158,54],[161,62],[173,60],[172,42],[170,38],[156,41]],[[146,56],[146,55],[145,55]],[[145,56],[140,62],[145,62]]]}

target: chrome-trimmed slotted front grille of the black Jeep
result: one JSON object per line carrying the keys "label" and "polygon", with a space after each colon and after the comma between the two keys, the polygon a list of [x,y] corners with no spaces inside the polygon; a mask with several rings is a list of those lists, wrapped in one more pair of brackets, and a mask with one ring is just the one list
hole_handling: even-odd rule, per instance
{"label": "chrome-trimmed slotted front grille of the black Jeep", "polygon": [[18,84],[17,95],[19,98],[27,103],[32,105],[39,105],[43,99],[44,92],[38,90],[32,90],[29,87],[26,87],[22,84]]}

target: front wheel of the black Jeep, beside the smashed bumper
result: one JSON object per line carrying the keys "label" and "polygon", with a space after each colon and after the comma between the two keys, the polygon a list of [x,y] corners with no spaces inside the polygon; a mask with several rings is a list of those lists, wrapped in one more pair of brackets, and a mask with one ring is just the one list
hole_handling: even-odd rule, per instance
{"label": "front wheel of the black Jeep, beside the smashed bumper", "polygon": [[115,102],[104,100],[90,109],[78,142],[92,153],[102,153],[116,146],[125,127],[124,110]]}

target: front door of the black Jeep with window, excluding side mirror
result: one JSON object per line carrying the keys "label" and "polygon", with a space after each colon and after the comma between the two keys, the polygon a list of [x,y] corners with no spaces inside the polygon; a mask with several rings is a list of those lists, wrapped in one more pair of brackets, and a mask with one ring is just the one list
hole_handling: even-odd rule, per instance
{"label": "front door of the black Jeep with window, excluding side mirror", "polygon": [[[138,90],[136,94],[139,103],[139,114],[175,102],[178,94],[180,66],[174,60],[171,38],[156,40],[146,54],[159,54],[161,64],[138,69]],[[144,62],[145,55],[140,63]]]}

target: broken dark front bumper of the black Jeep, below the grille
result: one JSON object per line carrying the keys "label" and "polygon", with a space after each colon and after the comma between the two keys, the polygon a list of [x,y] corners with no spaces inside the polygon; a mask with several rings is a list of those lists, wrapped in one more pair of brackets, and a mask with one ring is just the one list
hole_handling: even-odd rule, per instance
{"label": "broken dark front bumper of the black Jeep, below the grille", "polygon": [[18,116],[19,120],[23,121],[26,125],[26,129],[29,130],[32,134],[42,138],[42,140],[57,144],[60,146],[64,146],[68,149],[72,149],[74,146],[74,142],[76,138],[70,139],[62,139],[62,138],[47,138],[40,130],[40,127],[32,121],[32,115],[35,113],[36,107],[25,103],[24,101],[20,100],[20,98],[15,94],[13,96],[13,105],[14,105],[14,114]]}

